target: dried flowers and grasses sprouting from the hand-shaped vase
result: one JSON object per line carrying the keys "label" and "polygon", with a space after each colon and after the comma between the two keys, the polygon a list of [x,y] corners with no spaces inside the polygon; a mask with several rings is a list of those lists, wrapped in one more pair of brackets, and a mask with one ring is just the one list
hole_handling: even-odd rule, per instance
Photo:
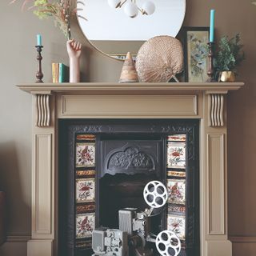
{"label": "dried flowers and grasses sprouting from the hand-shaped vase", "polygon": [[[13,0],[10,3],[17,2],[18,0]],[[22,10],[26,5],[31,2],[32,6],[28,9],[33,10],[33,13],[40,19],[54,18],[55,26],[62,31],[66,38],[70,39],[70,18],[75,14],[78,8],[73,8],[75,5],[74,0],[23,0]],[[83,4],[82,2],[78,2]],[[80,17],[80,16],[79,16]],[[83,18],[83,17],[81,17]],[[86,20],[86,18],[84,18]]]}

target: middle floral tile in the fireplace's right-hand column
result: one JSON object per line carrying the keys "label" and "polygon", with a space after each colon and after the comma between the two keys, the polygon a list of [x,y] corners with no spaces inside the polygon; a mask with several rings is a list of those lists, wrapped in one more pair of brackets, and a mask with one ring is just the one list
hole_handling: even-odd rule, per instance
{"label": "middle floral tile in the fireplace's right-hand column", "polygon": [[176,204],[186,204],[186,180],[185,179],[168,179],[168,202]]}

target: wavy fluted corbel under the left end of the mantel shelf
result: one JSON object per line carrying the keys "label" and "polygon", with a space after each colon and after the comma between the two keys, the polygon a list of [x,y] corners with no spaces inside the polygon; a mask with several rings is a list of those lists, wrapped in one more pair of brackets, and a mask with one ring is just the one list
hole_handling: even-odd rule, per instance
{"label": "wavy fluted corbel under the left end of the mantel shelf", "polygon": [[31,91],[35,95],[35,126],[50,127],[50,90]]}

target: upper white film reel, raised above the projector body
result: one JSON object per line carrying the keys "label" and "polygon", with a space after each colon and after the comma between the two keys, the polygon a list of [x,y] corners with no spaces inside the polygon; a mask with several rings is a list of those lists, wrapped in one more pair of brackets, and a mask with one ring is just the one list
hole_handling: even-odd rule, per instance
{"label": "upper white film reel, raised above the projector body", "polygon": [[164,206],[168,199],[166,186],[162,182],[148,182],[144,188],[143,196],[146,203],[152,208]]}

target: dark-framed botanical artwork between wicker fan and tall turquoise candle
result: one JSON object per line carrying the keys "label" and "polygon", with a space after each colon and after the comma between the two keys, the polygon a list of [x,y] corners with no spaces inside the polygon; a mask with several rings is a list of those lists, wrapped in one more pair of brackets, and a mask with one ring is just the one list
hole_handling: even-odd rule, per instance
{"label": "dark-framed botanical artwork between wicker fan and tall turquoise candle", "polygon": [[206,82],[208,75],[209,27],[184,27],[186,82]]}

